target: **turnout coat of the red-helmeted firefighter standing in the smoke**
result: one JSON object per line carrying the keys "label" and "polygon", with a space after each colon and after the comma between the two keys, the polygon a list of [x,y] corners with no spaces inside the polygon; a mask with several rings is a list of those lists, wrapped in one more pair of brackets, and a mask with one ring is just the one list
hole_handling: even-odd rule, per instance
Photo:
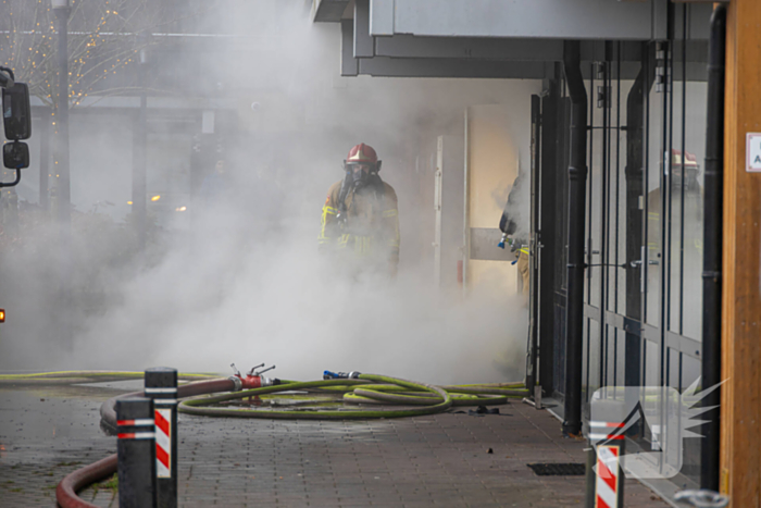
{"label": "turnout coat of the red-helmeted firefighter standing in the smoke", "polygon": [[397,194],[385,182],[383,191],[372,187],[350,190],[345,219],[339,218],[341,181],[327,191],[319,244],[322,250],[344,252],[349,259],[380,264],[399,262],[399,212]]}

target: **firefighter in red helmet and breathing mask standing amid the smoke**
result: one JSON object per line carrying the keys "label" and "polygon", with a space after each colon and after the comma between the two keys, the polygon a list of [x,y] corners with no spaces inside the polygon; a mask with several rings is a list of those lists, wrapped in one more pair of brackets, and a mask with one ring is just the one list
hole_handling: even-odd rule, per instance
{"label": "firefighter in red helmet and breathing mask standing amid the smoke", "polygon": [[394,277],[399,263],[399,213],[394,187],[378,176],[375,150],[361,143],[344,161],[344,179],[327,191],[319,247],[351,267]]}

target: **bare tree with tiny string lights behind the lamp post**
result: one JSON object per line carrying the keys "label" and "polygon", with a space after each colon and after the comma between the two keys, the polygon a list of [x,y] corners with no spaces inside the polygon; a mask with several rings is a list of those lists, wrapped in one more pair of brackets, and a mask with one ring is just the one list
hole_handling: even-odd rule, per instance
{"label": "bare tree with tiny string lights behind the lamp post", "polygon": [[[150,34],[212,9],[179,14],[177,3],[157,0],[72,0],[68,22],[68,100],[71,107],[87,97],[146,91],[136,80],[140,52],[157,44]],[[55,17],[50,0],[2,0],[0,62],[14,70],[29,94],[55,107]],[[92,103],[88,101],[87,103]]]}

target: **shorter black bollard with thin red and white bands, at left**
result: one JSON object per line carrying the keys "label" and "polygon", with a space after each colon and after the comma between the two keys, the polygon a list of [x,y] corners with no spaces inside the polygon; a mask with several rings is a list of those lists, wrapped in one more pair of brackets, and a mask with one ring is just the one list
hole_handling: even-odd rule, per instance
{"label": "shorter black bollard with thin red and white bands, at left", "polygon": [[116,400],[118,443],[118,506],[155,507],[155,439],[153,400],[134,397]]}

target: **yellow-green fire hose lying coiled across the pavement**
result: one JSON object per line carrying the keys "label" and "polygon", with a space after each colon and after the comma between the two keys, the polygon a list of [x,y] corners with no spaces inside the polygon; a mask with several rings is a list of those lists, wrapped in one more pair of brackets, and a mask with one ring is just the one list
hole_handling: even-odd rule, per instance
{"label": "yellow-green fire hose lying coiled across the pavement", "polygon": [[[25,374],[0,374],[0,386],[73,385],[140,380],[144,372],[132,371],[60,371]],[[180,373],[183,381],[216,380],[214,374]],[[212,382],[212,383],[214,383]],[[198,383],[183,385],[188,388]],[[222,386],[222,384],[220,385]],[[219,387],[215,391],[220,391]],[[199,393],[196,391],[196,393]],[[200,392],[208,394],[209,392]],[[132,394],[130,394],[132,395]],[[187,395],[192,395],[192,391]],[[276,395],[276,399],[273,399]],[[523,383],[434,386],[375,374],[358,374],[354,379],[330,379],[309,382],[278,381],[277,384],[223,395],[188,398],[179,412],[211,417],[262,418],[280,420],[349,420],[406,418],[436,414],[453,406],[496,406],[509,397],[525,397]],[[255,400],[248,407],[242,399]],[[224,402],[228,402],[224,407]],[[238,404],[236,407],[229,405]],[[330,406],[329,408],[326,406]],[[373,406],[372,409],[366,406]],[[387,409],[380,409],[386,406]]]}

